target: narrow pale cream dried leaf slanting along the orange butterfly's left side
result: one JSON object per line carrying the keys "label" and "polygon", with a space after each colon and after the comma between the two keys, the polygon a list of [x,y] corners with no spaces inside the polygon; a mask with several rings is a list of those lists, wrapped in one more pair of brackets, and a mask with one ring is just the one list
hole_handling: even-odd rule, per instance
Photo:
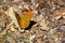
{"label": "narrow pale cream dried leaf slanting along the orange butterfly's left side", "polygon": [[[15,24],[16,27],[20,27],[18,24],[17,24],[17,19],[16,19],[16,16],[15,16],[15,13],[13,11],[13,8],[9,8],[9,10],[6,11],[6,15],[10,16],[10,18],[12,19],[11,23],[12,24]],[[11,27],[13,28],[13,27]]]}

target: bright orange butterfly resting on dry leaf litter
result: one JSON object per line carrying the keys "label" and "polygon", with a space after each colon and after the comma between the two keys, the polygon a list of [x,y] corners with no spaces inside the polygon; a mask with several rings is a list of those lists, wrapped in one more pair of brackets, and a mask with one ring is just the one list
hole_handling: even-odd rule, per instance
{"label": "bright orange butterfly resting on dry leaf litter", "polygon": [[20,15],[20,18],[18,18],[18,25],[21,28],[27,28],[30,24],[30,19],[31,17],[34,16],[34,13],[32,12],[26,12],[22,15]]}

